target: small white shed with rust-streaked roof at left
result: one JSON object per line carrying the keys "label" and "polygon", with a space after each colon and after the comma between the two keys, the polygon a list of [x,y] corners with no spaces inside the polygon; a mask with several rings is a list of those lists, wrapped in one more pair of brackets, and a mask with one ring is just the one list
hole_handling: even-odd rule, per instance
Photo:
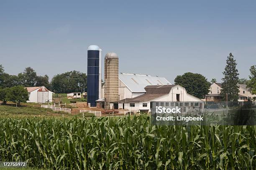
{"label": "small white shed with rust-streaked roof at left", "polygon": [[46,103],[52,102],[52,94],[46,87],[25,87],[28,90],[29,100],[27,102]]}

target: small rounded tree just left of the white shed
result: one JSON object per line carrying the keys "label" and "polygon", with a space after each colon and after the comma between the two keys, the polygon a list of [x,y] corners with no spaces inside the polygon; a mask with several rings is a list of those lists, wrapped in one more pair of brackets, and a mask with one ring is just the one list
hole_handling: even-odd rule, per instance
{"label": "small rounded tree just left of the white shed", "polygon": [[18,102],[18,105],[20,105],[20,102],[26,102],[28,99],[28,90],[24,86],[10,87],[6,94],[6,100]]}

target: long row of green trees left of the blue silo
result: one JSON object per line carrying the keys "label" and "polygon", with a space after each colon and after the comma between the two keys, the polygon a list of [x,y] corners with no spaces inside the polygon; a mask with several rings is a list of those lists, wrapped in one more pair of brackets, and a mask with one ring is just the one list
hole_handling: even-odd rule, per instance
{"label": "long row of green trees left of the blue silo", "polygon": [[70,71],[55,75],[49,82],[48,75],[37,75],[31,67],[26,67],[18,75],[9,75],[0,65],[0,89],[15,86],[45,86],[55,93],[86,92],[87,75],[79,71]]}

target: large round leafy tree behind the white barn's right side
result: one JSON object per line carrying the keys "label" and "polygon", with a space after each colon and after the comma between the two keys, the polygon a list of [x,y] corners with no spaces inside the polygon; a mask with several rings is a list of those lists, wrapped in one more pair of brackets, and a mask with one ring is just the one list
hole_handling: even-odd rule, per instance
{"label": "large round leafy tree behind the white barn's right side", "polygon": [[201,74],[186,72],[184,75],[178,75],[174,83],[185,87],[187,93],[200,99],[209,93],[210,82]]}

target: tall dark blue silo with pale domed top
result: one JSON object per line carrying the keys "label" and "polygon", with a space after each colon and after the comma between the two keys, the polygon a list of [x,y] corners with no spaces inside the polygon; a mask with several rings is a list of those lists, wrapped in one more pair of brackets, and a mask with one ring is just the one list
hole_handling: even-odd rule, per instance
{"label": "tall dark blue silo with pale domed top", "polygon": [[91,107],[96,107],[99,99],[100,62],[100,47],[90,45],[87,49],[87,102]]}

